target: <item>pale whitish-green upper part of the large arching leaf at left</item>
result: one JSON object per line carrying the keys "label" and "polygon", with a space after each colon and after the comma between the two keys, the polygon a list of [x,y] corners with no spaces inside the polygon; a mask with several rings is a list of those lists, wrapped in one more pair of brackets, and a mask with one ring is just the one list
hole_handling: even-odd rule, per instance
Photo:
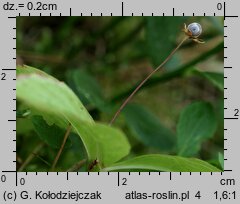
{"label": "pale whitish-green upper part of the large arching leaf at left", "polygon": [[93,119],[78,97],[65,83],[36,74],[19,75],[17,98],[32,104],[39,111],[57,117],[71,117],[93,123]]}

